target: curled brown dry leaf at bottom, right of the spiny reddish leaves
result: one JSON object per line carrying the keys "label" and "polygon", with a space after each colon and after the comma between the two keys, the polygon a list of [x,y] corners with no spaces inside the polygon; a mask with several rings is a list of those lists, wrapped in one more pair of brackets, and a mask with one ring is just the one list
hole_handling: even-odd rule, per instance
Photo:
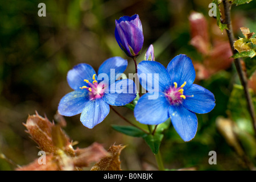
{"label": "curled brown dry leaf at bottom, right of the spiny reddish leaves", "polygon": [[90,170],[91,171],[122,171],[119,155],[125,146],[111,146],[108,152],[111,156],[103,158],[100,162],[96,163]]}

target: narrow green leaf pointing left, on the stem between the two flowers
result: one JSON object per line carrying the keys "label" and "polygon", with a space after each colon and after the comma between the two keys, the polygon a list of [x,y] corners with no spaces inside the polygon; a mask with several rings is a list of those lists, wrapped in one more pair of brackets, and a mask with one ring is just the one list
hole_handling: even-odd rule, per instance
{"label": "narrow green leaf pointing left, on the stem between the two flowers", "polygon": [[145,137],[147,134],[134,126],[112,125],[113,129],[131,137]]}

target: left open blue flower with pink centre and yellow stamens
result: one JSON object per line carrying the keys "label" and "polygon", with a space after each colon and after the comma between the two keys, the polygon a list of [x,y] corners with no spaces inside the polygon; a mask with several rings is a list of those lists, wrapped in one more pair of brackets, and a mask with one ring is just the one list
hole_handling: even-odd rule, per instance
{"label": "left open blue flower with pink centre and yellow stamens", "polygon": [[123,106],[137,94],[133,80],[116,79],[125,71],[127,60],[112,57],[101,64],[98,75],[89,64],[78,64],[68,72],[69,86],[74,90],[61,98],[59,113],[73,116],[81,113],[80,121],[89,129],[109,114],[109,105]]}

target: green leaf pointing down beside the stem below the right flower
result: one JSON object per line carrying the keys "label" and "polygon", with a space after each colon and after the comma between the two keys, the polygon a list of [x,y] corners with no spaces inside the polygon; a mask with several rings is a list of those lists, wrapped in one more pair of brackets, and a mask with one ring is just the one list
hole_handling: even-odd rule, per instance
{"label": "green leaf pointing down beside the stem below the right flower", "polygon": [[143,139],[148,144],[151,151],[154,154],[158,154],[159,147],[160,147],[163,137],[164,137],[163,134],[155,133],[154,135],[146,135],[146,137],[143,137]]}

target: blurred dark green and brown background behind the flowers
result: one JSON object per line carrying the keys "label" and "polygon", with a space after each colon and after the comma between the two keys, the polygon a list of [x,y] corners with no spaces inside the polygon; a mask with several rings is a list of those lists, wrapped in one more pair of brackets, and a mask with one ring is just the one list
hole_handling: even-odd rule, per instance
{"label": "blurred dark green and brown background behind the flowers", "polygon": [[[46,17],[38,16],[40,2],[46,4]],[[20,166],[38,158],[39,149],[24,131],[23,123],[35,111],[47,115],[49,120],[56,119],[61,97],[72,90],[66,76],[74,65],[88,63],[97,71],[104,60],[121,56],[129,60],[125,73],[134,73],[133,61],[115,41],[114,21],[123,15],[138,14],[144,33],[144,45],[138,61],[143,60],[150,44],[154,45],[156,61],[165,66],[174,56],[185,53],[195,63],[198,72],[196,83],[209,89],[216,97],[216,107],[211,113],[197,114],[199,128],[191,142],[183,142],[172,126],[165,131],[160,147],[165,167],[249,169],[237,154],[236,147],[221,133],[225,126],[218,127],[220,117],[231,118],[246,134],[253,134],[242,91],[239,86],[235,89],[233,86],[240,82],[229,59],[228,39],[225,32],[222,33],[217,27],[216,19],[208,15],[210,2],[0,1],[0,153]],[[202,53],[191,42],[195,30],[192,30],[189,16],[195,11],[205,16],[208,29],[198,27],[199,32],[208,34],[210,47],[215,48],[215,52]],[[242,26],[256,32],[256,2],[233,6],[232,18],[236,38],[242,36],[239,29]],[[253,59],[250,61],[255,63]],[[250,85],[251,88],[254,86],[252,93],[255,93],[255,80],[251,80]],[[118,107],[117,110],[135,121],[133,112],[126,107]],[[112,129],[113,124],[127,125],[112,110],[92,130],[84,127],[79,117],[65,117],[67,126],[63,128],[72,140],[79,142],[77,147],[86,147],[93,142],[104,144],[106,149],[114,143],[124,144],[127,147],[121,153],[123,170],[157,169],[154,155],[143,139],[128,137]],[[249,158],[254,162],[256,149],[249,148],[253,156]],[[246,151],[245,148],[243,150]],[[209,151],[217,152],[217,165],[209,165]],[[0,159],[0,170],[13,169],[15,165]]]}

